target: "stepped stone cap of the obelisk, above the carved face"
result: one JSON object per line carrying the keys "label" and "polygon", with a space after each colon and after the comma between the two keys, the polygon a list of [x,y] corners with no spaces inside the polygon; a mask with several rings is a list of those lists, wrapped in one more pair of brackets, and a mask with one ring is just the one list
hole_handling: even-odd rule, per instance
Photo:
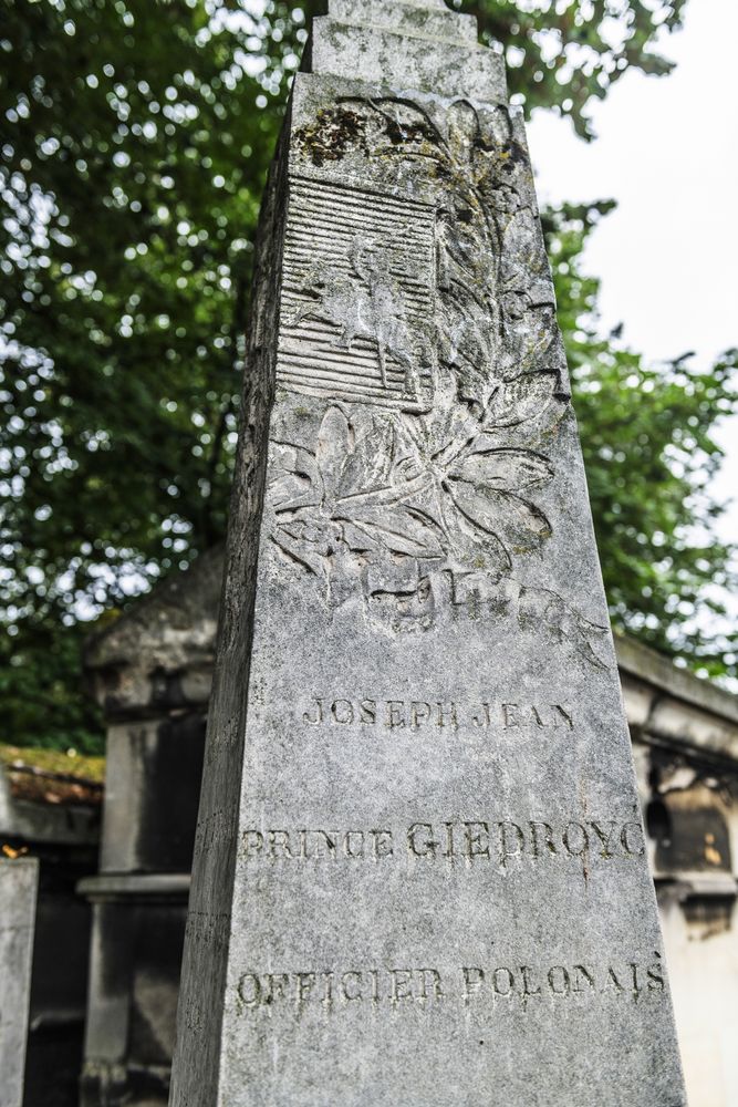
{"label": "stepped stone cap of the obelisk, above the carved face", "polygon": [[501,52],[480,45],[474,15],[444,0],[329,0],[329,14],[313,20],[306,68],[391,89],[507,99]]}

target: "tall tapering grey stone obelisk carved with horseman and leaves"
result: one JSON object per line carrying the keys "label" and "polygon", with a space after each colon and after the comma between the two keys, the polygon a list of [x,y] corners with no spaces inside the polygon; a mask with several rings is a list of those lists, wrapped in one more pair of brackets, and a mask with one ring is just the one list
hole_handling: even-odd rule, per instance
{"label": "tall tapering grey stone obelisk carved with horseman and leaves", "polygon": [[682,1107],[521,112],[331,0],[261,217],[170,1104]]}

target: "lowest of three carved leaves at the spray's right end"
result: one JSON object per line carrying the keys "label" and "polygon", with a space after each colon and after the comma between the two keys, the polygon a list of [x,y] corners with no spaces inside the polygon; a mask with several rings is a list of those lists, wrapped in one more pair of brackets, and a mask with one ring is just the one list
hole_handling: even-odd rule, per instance
{"label": "lowest of three carved leaves at the spray's right end", "polygon": [[447,484],[454,503],[471,523],[499,537],[513,554],[530,554],[551,535],[543,513],[528,500],[510,493],[484,489],[467,480]]}

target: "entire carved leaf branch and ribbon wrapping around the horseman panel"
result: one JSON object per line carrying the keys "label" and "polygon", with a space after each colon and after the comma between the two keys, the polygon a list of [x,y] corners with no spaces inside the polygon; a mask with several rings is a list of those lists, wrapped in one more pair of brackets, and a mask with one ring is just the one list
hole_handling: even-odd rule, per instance
{"label": "entire carved leaf branch and ribbon wrapping around the horseman panel", "polygon": [[402,99],[350,99],[310,128],[321,158],[333,131],[367,156],[416,161],[444,185],[435,342],[445,373],[428,415],[350,416],[333,405],[313,449],[274,443],[272,538],[324,582],[331,604],[355,594],[361,580],[367,601],[393,594],[420,598],[423,607],[428,575],[438,569],[459,594],[491,589],[498,609],[514,593],[521,627],[536,623],[601,668],[592,643],[605,629],[512,576],[514,559],[551,534],[531,494],[553,467],[500,432],[539,421],[559,373],[542,363],[553,293],[533,201],[517,184],[514,166],[524,158],[506,108],[486,126],[466,101],[435,122]]}

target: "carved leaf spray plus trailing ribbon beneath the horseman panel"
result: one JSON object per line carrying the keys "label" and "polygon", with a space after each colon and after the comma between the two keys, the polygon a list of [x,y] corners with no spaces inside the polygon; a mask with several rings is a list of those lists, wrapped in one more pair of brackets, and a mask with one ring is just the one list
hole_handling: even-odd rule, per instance
{"label": "carved leaf spray plus trailing ribbon beneath the horseman panel", "polygon": [[[347,413],[330,406],[315,449],[272,443],[271,534],[284,555],[322,581],[330,604],[356,594],[422,598],[428,573],[450,576],[457,603],[487,600],[524,630],[565,643],[604,669],[595,646],[606,628],[585,619],[557,592],[511,576],[512,559],[550,534],[527,494],[553,476],[530,449],[491,447],[486,433],[448,437],[449,420]],[[456,425],[455,432],[460,427]]]}

